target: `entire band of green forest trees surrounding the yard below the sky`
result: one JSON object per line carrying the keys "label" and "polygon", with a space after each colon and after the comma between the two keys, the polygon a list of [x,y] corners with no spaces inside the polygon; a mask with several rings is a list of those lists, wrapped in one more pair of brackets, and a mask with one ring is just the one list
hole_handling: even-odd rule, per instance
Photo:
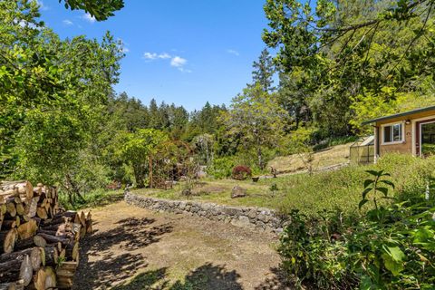
{"label": "entire band of green forest trees surrounding the yard below the sky", "polygon": [[[77,3],[97,20],[123,5]],[[267,0],[252,82],[227,106],[189,112],[113,91],[123,53],[110,33],[61,39],[35,1],[2,1],[0,176],[80,197],[113,180],[147,186],[147,157],[168,140],[225,177],[237,164],[261,171],[277,155],[369,134],[364,120],[435,103],[433,5]]]}

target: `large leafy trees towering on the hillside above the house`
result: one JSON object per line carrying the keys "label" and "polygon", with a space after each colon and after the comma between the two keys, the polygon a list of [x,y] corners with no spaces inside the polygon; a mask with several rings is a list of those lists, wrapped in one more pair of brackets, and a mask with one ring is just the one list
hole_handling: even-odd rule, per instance
{"label": "large leafy trees towering on the hillside above the house", "polygon": [[[294,111],[296,120],[296,112],[306,108],[304,118],[318,127],[319,135],[341,136],[357,131],[350,125],[353,103],[367,94],[387,103],[397,93],[421,95],[421,81],[433,79],[433,5],[323,0],[312,6],[268,0],[269,29],[263,39],[279,50],[284,107]],[[382,91],[388,88],[393,90],[386,96]]]}

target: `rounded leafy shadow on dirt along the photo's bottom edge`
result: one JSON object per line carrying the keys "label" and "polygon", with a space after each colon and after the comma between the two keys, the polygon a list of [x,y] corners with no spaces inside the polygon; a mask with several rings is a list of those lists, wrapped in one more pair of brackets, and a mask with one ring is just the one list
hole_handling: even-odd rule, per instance
{"label": "rounded leafy shadow on dirt along the photo's bottom edge", "polygon": [[207,263],[191,271],[184,279],[169,283],[167,268],[137,275],[131,282],[114,287],[114,290],[168,289],[168,290],[242,290],[237,282],[240,275],[226,266]]}

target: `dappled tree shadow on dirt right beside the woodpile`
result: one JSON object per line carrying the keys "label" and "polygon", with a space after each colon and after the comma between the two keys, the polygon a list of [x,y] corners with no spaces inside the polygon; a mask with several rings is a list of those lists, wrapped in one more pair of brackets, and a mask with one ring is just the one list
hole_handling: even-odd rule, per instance
{"label": "dappled tree shadow on dirt right beside the woodpile", "polygon": [[[73,289],[105,289],[144,269],[146,257],[131,252],[158,243],[172,230],[169,224],[153,226],[154,222],[151,218],[126,218],[109,231],[86,237],[81,244],[81,266]],[[92,261],[92,256],[99,259]]]}

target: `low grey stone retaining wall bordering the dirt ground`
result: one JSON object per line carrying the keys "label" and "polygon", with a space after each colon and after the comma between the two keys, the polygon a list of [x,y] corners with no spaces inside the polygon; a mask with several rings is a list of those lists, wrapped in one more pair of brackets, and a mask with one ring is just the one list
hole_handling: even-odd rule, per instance
{"label": "low grey stone retaining wall bordering the dirt ground", "polygon": [[279,233],[283,230],[283,219],[268,208],[227,207],[214,203],[148,198],[126,192],[125,201],[140,208],[158,212],[189,214],[211,220],[230,223],[237,227],[263,229]]}

